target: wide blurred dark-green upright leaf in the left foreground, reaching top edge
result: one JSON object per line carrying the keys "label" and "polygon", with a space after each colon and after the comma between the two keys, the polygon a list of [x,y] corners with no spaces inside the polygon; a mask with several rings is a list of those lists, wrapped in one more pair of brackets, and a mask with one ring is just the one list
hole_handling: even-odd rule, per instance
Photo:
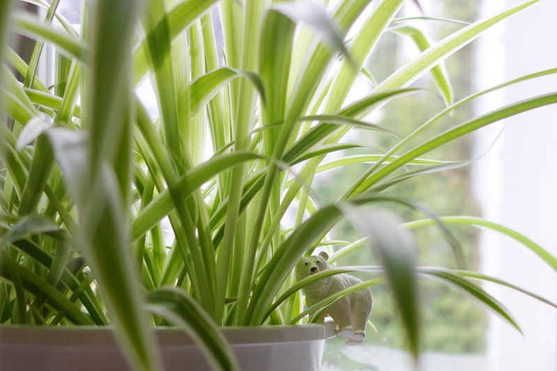
{"label": "wide blurred dark-green upright leaf in the left foreground, reaching top edge", "polygon": [[[121,5],[120,5],[121,3]],[[90,152],[91,179],[95,180],[95,172],[100,171],[100,163],[107,161],[116,164],[121,141],[128,135],[127,126],[130,124],[130,110],[132,105],[129,86],[129,71],[131,39],[136,22],[136,11],[126,9],[133,1],[121,1],[112,10],[103,1],[97,3],[95,12],[97,22],[94,27],[93,56],[91,72],[91,90],[88,92],[88,117],[83,117],[91,141]],[[141,5],[135,4],[134,9]],[[130,149],[131,150],[131,149]],[[118,177],[125,176],[126,183],[129,174],[123,172]],[[123,192],[125,195],[125,192]]]}

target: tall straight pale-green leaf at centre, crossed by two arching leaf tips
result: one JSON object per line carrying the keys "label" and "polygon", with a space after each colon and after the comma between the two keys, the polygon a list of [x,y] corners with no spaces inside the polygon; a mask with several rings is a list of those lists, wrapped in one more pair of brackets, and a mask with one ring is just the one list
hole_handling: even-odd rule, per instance
{"label": "tall straight pale-green leaf at centre, crossed by two arching leaf tips", "polygon": [[[228,3],[233,7],[237,4]],[[238,67],[243,71],[254,71],[257,69],[259,33],[262,23],[262,17],[265,13],[265,2],[262,1],[246,1],[243,9],[236,7],[232,12],[224,13],[226,19],[226,28],[234,29],[237,35],[242,38],[235,38],[230,35],[226,46],[230,53],[237,52],[233,60],[230,60],[232,67]],[[228,9],[228,7],[226,7]],[[242,10],[243,15],[240,16]],[[236,13],[237,12],[237,13]],[[237,18],[232,22],[242,19],[242,24],[229,25],[230,16],[238,14]],[[241,47],[242,51],[236,49]],[[238,64],[240,63],[240,64]],[[231,128],[235,136],[234,150],[244,151],[249,149],[250,132],[253,127],[253,121],[256,117],[256,95],[253,90],[253,83],[246,79],[242,79],[230,87],[231,94]],[[249,292],[251,287],[253,272],[251,265],[256,255],[256,242],[253,236],[258,236],[260,232],[260,222],[262,217],[256,216],[251,224],[253,232],[251,240],[246,233],[247,214],[240,214],[240,204],[242,199],[242,184],[246,177],[246,164],[235,167],[230,171],[230,190],[228,195],[228,211],[226,215],[226,225],[224,227],[224,239],[221,248],[222,256],[219,262],[219,274],[217,281],[217,311],[215,316],[221,318],[224,299],[226,297],[227,288],[230,287],[230,295],[237,296],[237,318],[244,316],[247,303],[249,301]],[[266,197],[261,199],[262,204],[266,204]],[[261,208],[255,213],[265,213]],[[248,242],[249,240],[249,242]],[[244,247],[246,246],[246,247]],[[228,274],[230,272],[230,274]],[[229,285],[230,282],[230,285]]]}

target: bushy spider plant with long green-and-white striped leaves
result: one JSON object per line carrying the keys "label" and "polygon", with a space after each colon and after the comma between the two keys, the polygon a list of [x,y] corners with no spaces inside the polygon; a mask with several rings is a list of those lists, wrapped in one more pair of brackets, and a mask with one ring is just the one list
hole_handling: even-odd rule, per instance
{"label": "bushy spider plant with long green-and-white striped leaves", "polygon": [[[311,321],[335,299],[387,281],[417,358],[417,279],[427,277],[478,299],[518,328],[503,304],[471,280],[508,283],[416,267],[414,242],[400,222],[361,206],[418,208],[427,219],[405,228],[434,223],[449,240],[446,224],[493,229],[557,270],[554,256],[519,233],[472,217],[437,218],[389,194],[414,176],[469,163],[421,158],[432,149],[557,102],[557,92],[531,97],[416,140],[489,91],[557,72],[459,101],[444,72],[448,56],[538,1],[464,25],[438,42],[412,19],[397,18],[405,3],[416,1],[98,0],[86,3],[79,29],[57,12],[60,0],[26,0],[44,8],[44,17],[2,1],[0,37],[22,33],[36,46],[29,63],[7,44],[0,50],[6,61],[0,71],[0,322],[110,324],[137,370],[160,369],[150,325],[174,324],[198,340],[215,369],[233,370],[238,366],[220,326],[296,324],[306,315]],[[387,32],[409,35],[421,53],[369,94],[347,101],[358,76],[371,78],[364,62]],[[52,87],[37,75],[45,44],[58,58]],[[438,92],[411,87],[424,74],[432,74]],[[138,96],[145,81],[155,93],[155,114]],[[364,121],[407,94],[439,94],[446,107],[412,133]],[[355,146],[341,140],[354,130],[391,135],[397,144],[344,156],[343,149]],[[322,164],[331,152],[341,155]],[[314,177],[353,163],[368,170],[336,203],[316,204]],[[297,210],[291,228],[288,208]],[[346,215],[356,215],[365,238],[331,261],[371,241],[382,266],[334,268],[295,283],[297,259],[326,245],[327,233]],[[376,277],[304,311],[302,287],[355,271]]]}

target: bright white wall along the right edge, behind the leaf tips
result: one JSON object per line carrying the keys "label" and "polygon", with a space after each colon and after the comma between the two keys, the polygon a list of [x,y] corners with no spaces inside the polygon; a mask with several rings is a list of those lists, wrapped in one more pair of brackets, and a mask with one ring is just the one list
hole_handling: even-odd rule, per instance
{"label": "bright white wall along the right edge, behind the leaf tips", "polygon": [[[484,13],[518,0],[486,0]],[[478,90],[557,67],[557,1],[545,0],[480,38]],[[487,63],[485,61],[487,60]],[[478,104],[478,113],[557,91],[557,76],[521,83]],[[503,129],[504,128],[504,129]],[[476,152],[496,145],[474,165],[473,182],[485,218],[524,235],[557,256],[557,105],[517,115],[483,129]],[[557,302],[557,274],[517,243],[483,233],[483,271]],[[485,288],[515,315],[520,333],[499,318],[489,321],[489,370],[557,370],[557,309],[512,290]]]}

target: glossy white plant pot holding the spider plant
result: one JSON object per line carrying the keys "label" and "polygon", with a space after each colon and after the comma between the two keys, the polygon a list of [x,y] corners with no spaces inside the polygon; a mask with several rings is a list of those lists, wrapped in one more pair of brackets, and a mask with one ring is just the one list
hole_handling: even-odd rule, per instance
{"label": "glossy white plant pot holding the spider plant", "polygon": [[[167,371],[210,370],[198,348],[178,329],[154,330]],[[242,370],[319,371],[334,324],[224,328]],[[0,327],[0,370],[130,370],[106,327]]]}

